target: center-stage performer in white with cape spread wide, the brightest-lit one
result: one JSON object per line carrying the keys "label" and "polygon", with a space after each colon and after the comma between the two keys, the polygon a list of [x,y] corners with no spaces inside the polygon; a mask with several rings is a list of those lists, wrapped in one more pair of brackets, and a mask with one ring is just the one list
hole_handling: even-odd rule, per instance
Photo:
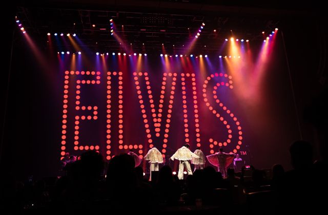
{"label": "center-stage performer in white with cape spread wide, the brightest-lit one", "polygon": [[179,160],[179,173],[178,173],[178,178],[180,180],[183,179],[183,168],[186,167],[188,175],[193,175],[193,172],[191,171],[190,168],[190,163],[189,161],[194,158],[199,158],[198,155],[195,155],[189,150],[189,144],[186,143],[183,145],[181,148],[179,148],[174,155],[170,158],[171,160],[177,159]]}

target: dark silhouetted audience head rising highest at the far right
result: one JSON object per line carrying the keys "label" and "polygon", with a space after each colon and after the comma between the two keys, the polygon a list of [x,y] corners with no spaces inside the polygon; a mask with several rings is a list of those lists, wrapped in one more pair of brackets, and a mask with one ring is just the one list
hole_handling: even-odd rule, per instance
{"label": "dark silhouetted audience head rising highest at the far right", "polygon": [[312,165],[312,146],[309,142],[296,141],[291,145],[289,152],[295,169],[306,168]]}

